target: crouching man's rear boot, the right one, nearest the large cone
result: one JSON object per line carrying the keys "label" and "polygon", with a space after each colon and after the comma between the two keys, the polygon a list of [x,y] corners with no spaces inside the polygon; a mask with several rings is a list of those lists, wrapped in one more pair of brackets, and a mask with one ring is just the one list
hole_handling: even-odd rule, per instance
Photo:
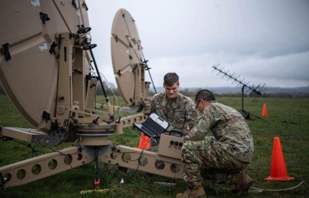
{"label": "crouching man's rear boot, the right one, nearest the large cone", "polygon": [[234,180],[235,189],[231,191],[232,194],[244,195],[253,185],[253,180],[244,173],[237,173]]}

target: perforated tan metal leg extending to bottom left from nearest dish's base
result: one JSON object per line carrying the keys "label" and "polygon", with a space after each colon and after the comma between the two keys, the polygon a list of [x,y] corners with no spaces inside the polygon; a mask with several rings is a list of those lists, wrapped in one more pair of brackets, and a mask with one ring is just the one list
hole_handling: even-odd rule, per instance
{"label": "perforated tan metal leg extending to bottom left from nearest dish's base", "polygon": [[64,148],[31,159],[0,167],[8,181],[3,187],[21,186],[93,161],[93,157],[79,147]]}

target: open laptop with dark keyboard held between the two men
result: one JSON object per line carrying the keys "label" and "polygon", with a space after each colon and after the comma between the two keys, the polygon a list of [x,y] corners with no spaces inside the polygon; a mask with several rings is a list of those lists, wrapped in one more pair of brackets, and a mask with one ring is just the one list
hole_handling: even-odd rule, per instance
{"label": "open laptop with dark keyboard held between the two men", "polygon": [[133,125],[144,132],[148,137],[156,138],[167,129],[169,123],[157,114],[152,113],[143,124],[133,123]]}

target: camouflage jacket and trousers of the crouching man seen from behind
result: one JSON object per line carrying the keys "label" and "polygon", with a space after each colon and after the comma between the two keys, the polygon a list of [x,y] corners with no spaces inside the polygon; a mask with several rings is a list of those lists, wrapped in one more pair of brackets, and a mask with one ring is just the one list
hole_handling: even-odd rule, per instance
{"label": "camouflage jacket and trousers of the crouching man seen from behind", "polygon": [[232,107],[213,101],[185,136],[184,180],[191,188],[201,186],[202,177],[232,185],[252,154],[253,139],[245,119]]}

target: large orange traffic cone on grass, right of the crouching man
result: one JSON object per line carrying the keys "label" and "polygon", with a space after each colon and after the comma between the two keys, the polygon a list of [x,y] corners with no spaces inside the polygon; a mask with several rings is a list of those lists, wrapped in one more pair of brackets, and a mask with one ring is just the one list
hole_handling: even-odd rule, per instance
{"label": "large orange traffic cone on grass, right of the crouching man", "polygon": [[279,137],[274,137],[273,156],[271,159],[270,176],[264,180],[291,181],[294,177],[288,176],[287,166],[285,164],[281,143]]}

